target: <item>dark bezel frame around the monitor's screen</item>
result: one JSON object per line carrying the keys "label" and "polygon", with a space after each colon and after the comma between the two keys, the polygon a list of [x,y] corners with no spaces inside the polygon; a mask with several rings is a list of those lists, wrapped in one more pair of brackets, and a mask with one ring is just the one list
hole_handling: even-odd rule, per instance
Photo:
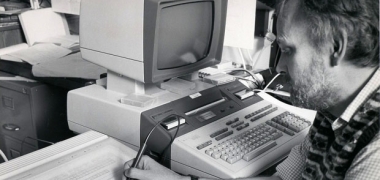
{"label": "dark bezel frame around the monitor's screen", "polygon": [[[213,4],[213,25],[208,55],[189,65],[174,67],[170,69],[157,68],[157,38],[160,11],[165,7],[181,4],[211,2]],[[225,19],[227,14],[227,1],[224,0],[147,0],[144,4],[144,82],[156,83],[195,72],[199,69],[220,63]],[[220,11],[217,11],[220,9]],[[154,12],[154,13],[152,13]],[[152,33],[152,30],[154,32]],[[153,53],[152,53],[153,52]]]}

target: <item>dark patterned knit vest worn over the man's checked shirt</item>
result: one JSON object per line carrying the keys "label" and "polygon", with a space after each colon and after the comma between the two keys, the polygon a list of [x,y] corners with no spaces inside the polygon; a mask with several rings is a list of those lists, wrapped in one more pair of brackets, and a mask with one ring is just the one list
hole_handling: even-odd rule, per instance
{"label": "dark patterned knit vest worn over the man's checked shirt", "polygon": [[332,115],[318,113],[308,136],[311,146],[302,178],[344,179],[354,157],[379,132],[379,115],[379,88],[357,109],[349,123],[335,133]]}

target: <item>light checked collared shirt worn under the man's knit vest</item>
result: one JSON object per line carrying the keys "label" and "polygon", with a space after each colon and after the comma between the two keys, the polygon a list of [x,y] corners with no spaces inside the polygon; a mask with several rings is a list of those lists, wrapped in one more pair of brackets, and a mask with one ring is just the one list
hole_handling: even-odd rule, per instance
{"label": "light checked collared shirt worn under the man's knit vest", "polygon": [[[371,77],[370,81],[360,91],[354,101],[341,115],[341,119],[349,121],[356,110],[369,96],[380,86],[380,69]],[[339,119],[339,118],[338,118]],[[334,121],[333,130],[337,131],[345,122]],[[294,147],[288,158],[277,166],[276,176],[284,180],[301,179],[306,164],[306,155],[310,148],[309,138]],[[372,141],[364,147],[354,158],[350,168],[346,172],[345,179],[379,179],[380,177],[380,134],[378,133]]]}

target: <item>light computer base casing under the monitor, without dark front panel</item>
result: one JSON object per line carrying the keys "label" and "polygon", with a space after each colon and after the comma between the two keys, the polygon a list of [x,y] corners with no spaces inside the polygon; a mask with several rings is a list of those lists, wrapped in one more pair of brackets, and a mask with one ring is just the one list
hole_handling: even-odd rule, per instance
{"label": "light computer base casing under the monitor, without dark front panel", "polygon": [[[196,91],[212,87],[199,80]],[[123,104],[122,98],[131,94],[154,98],[144,107]],[[132,149],[140,146],[141,113],[184,97],[159,88],[159,84],[144,84],[109,71],[107,85],[98,84],[69,91],[67,118],[69,128],[77,133],[98,131],[118,139]]]}

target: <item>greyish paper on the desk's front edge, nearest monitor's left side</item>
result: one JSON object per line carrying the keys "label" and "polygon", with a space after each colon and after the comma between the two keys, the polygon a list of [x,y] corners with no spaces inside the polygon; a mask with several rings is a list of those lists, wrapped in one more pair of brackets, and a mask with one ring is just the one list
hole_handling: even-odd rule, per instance
{"label": "greyish paper on the desk's front edge, nearest monitor's left side", "polygon": [[32,67],[32,72],[36,77],[99,79],[107,69],[84,60],[81,53],[75,53],[35,65]]}

